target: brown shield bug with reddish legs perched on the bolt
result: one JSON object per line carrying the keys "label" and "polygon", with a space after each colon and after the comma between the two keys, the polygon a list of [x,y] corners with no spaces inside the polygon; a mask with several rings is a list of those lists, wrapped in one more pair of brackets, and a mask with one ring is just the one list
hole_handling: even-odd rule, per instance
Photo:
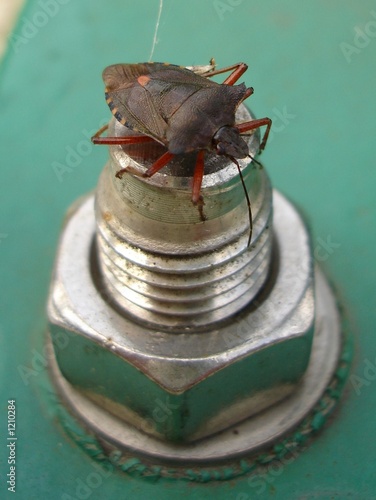
{"label": "brown shield bug with reddish legs perched on the bolt", "polygon": [[[244,63],[206,71],[167,63],[115,64],[103,71],[106,102],[114,117],[126,127],[143,135],[101,137],[107,125],[93,137],[94,144],[134,144],[155,140],[167,151],[143,174],[151,177],[161,170],[174,155],[197,152],[192,181],[192,202],[198,206],[201,219],[204,201],[200,195],[204,176],[205,152],[215,152],[233,161],[238,168],[248,204],[250,235],[252,213],[247,189],[237,159],[249,155],[242,134],[266,126],[260,151],[266,145],[271,120],[261,118],[235,123],[235,112],[253,93],[244,83],[234,85],[247,70]],[[209,78],[225,72],[230,75],[222,84]],[[127,168],[116,176],[121,178]]]}

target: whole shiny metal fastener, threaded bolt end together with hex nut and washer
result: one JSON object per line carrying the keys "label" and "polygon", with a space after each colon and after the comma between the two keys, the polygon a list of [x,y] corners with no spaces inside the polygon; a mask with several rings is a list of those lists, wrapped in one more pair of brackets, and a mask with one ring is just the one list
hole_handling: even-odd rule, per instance
{"label": "whole shiny metal fastener, threaded bolt end together with hex nut and washer", "polygon": [[[249,116],[245,108],[240,114]],[[111,134],[125,133],[112,127]],[[254,217],[247,248],[236,167],[207,159],[202,222],[191,202],[189,156],[151,179],[135,175],[158,155],[153,147],[111,148],[95,217],[90,196],[66,222],[48,306],[54,378],[75,412],[121,448],[131,441],[140,453],[174,460],[243,453],[256,442],[243,442],[241,451],[227,443],[226,452],[216,433],[262,410],[270,415],[288,395],[293,401],[308,366],[316,389],[311,380],[301,407],[295,400],[296,419],[317,401],[338,355],[334,302],[317,300],[317,291],[315,299],[307,230],[285,198],[274,192],[272,203],[264,169],[241,163]],[[255,154],[257,134],[249,148]],[[133,174],[115,178],[129,165]],[[325,280],[317,286],[330,295]],[[336,341],[328,340],[327,321]],[[70,340],[59,349],[62,329]],[[323,345],[325,367],[317,354]],[[264,443],[298,421],[286,411],[288,423],[264,429]],[[198,439],[202,447],[179,452],[169,444]]]}

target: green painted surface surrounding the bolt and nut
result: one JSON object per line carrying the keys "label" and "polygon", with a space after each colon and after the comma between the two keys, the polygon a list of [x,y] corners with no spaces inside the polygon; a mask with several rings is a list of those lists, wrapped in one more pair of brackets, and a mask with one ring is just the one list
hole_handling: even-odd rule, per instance
{"label": "green painted surface surrounding the bolt and nut", "polygon": [[244,80],[255,95],[249,104],[259,117],[274,119],[263,161],[274,185],[307,214],[316,258],[356,337],[347,397],[331,425],[257,484],[243,477],[194,485],[95,476],[94,462],[55,421],[41,336],[57,238],[67,207],[95,186],[106,159],[105,148],[88,142],[109,117],[101,70],[149,58],[157,11],[151,0],[31,0],[15,31],[22,38],[11,38],[2,63],[0,496],[13,498],[4,460],[6,406],[14,398],[21,499],[376,498],[371,0],[165,0],[154,54],[178,64],[215,56],[220,66],[250,66]]}

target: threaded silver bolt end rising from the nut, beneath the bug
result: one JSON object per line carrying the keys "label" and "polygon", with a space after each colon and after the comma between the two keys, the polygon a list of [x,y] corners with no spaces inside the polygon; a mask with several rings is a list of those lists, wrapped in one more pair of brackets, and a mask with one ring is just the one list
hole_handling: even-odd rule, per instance
{"label": "threaded silver bolt end rising from the nut, beneath the bug", "polygon": [[[240,114],[249,119],[245,108]],[[116,121],[112,127],[127,130]],[[256,136],[249,142],[255,154]],[[191,202],[195,155],[178,157],[151,179],[125,174],[119,180],[115,174],[126,166],[141,175],[156,148],[143,148],[142,164],[120,147],[111,149],[96,195],[98,262],[111,299],[125,314],[163,330],[195,331],[239,312],[259,293],[270,269],[272,202],[265,170],[240,161],[254,218],[247,249],[244,191],[227,158],[206,160],[202,222]]]}

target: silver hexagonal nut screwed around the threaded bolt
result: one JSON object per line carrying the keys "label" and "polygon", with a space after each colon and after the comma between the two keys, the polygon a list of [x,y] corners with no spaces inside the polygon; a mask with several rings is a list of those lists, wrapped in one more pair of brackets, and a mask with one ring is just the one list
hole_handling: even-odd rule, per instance
{"label": "silver hexagonal nut screwed around the threaded bolt", "polygon": [[297,388],[314,331],[312,255],[285,198],[274,192],[274,265],[262,295],[231,321],[190,334],[147,330],[101,293],[93,203],[67,216],[48,303],[57,365],[74,389],[148,434],[194,441]]}

